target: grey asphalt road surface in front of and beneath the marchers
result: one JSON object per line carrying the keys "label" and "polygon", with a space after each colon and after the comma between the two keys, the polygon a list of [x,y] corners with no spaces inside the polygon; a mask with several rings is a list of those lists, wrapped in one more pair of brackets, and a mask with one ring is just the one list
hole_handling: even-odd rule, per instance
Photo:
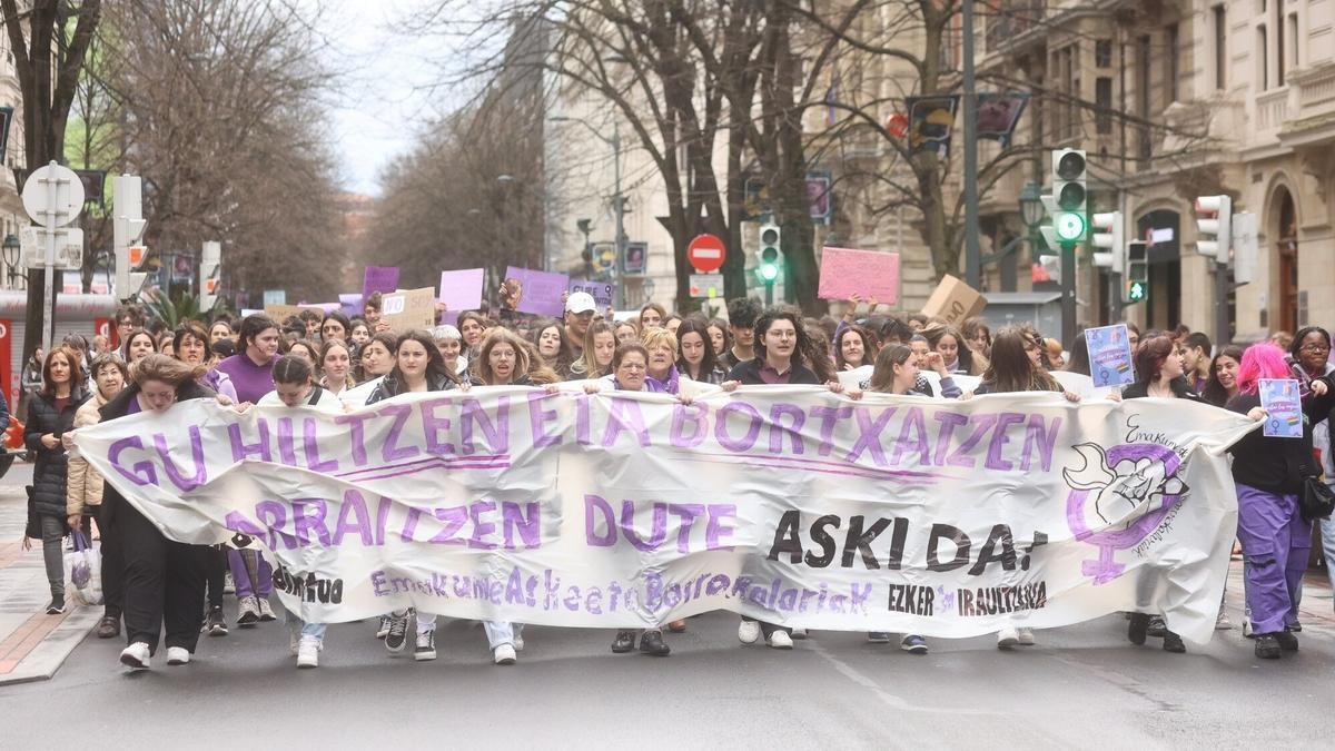
{"label": "grey asphalt road surface in front of and beneath the marchers", "polygon": [[[27,473],[17,465],[0,486],[5,545],[20,529]],[[0,561],[40,573],[40,557],[37,547]],[[1238,576],[1235,563],[1230,612],[1240,623]],[[28,600],[41,595],[39,585]],[[159,652],[139,675],[117,664],[119,639],[89,636],[49,680],[3,684],[0,675],[0,748],[93,739],[342,748],[435,738],[559,748],[1319,747],[1335,620],[1318,577],[1304,611],[1302,651],[1268,663],[1252,657],[1238,629],[1188,655],[1135,648],[1117,616],[1040,632],[1036,647],[1013,652],[991,639],[936,639],[928,656],[836,632],[786,653],[742,647],[728,613],[669,635],[668,659],[613,655],[610,632],[535,627],[519,664],[506,668],[491,664],[481,627],[465,621],[442,621],[434,663],[390,656],[371,623],[338,625],[314,671],[295,669],[282,623],[202,639],[187,667],[167,667]],[[1271,707],[1286,720],[1256,722]]]}

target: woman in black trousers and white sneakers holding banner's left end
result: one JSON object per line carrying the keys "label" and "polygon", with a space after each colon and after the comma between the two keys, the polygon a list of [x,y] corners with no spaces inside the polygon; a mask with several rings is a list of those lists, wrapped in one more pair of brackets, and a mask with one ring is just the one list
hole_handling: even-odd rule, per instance
{"label": "woman in black trousers and white sneakers holding banner's left end", "polygon": [[[101,421],[140,412],[163,413],[179,401],[215,398],[212,392],[199,385],[204,370],[202,365],[150,354],[131,366],[129,388],[101,408]],[[168,540],[111,484],[104,489],[101,513],[116,527],[125,556],[123,584],[128,647],[120,652],[121,664],[131,669],[147,669],[164,624],[167,664],[188,663],[204,620],[208,547]]]}

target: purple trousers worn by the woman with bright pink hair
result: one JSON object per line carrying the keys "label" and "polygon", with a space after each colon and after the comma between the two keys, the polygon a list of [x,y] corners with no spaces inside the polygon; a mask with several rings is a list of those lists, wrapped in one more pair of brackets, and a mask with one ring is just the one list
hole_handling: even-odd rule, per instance
{"label": "purple trousers worn by the woman with bright pink hair", "polygon": [[1312,525],[1298,496],[1238,484],[1238,540],[1247,556],[1247,605],[1255,633],[1276,633],[1298,620]]}

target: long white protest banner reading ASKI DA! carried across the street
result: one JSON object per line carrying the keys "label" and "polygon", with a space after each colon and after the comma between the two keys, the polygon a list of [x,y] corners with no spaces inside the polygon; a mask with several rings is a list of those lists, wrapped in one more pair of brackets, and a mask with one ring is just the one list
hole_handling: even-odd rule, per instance
{"label": "long white protest banner reading ASKI DA! carried across the street", "polygon": [[1184,400],[478,388],[332,416],[192,401],[75,441],[168,536],[259,537],[310,621],[729,609],[961,637],[1140,609],[1204,641],[1238,516],[1222,452],[1254,428]]}

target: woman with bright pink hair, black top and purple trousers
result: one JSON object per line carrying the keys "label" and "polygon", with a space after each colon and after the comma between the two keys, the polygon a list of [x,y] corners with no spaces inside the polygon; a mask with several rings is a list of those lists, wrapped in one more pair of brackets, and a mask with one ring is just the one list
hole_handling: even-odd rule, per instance
{"label": "woman with bright pink hair, black top and purple trousers", "polygon": [[[1263,420],[1259,386],[1263,378],[1292,378],[1284,353],[1268,343],[1243,353],[1238,367],[1238,396],[1226,409]],[[1328,376],[1311,381],[1303,397],[1303,438],[1267,437],[1252,430],[1230,449],[1238,485],[1238,539],[1247,556],[1247,605],[1251,608],[1256,656],[1279,659],[1298,651],[1288,627],[1298,620],[1303,569],[1312,547],[1312,522],[1299,510],[1303,478],[1316,476],[1312,461],[1312,425],[1335,405]]]}

